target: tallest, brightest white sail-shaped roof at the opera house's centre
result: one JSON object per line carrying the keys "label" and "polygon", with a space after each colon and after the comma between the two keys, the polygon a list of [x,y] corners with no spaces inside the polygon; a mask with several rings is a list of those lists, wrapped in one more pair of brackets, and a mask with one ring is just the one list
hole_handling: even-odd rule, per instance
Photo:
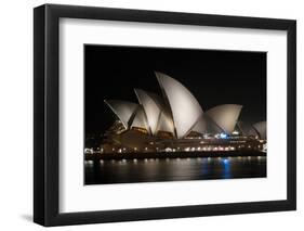
{"label": "tallest, brightest white sail-shaped roof at the opera house's centre", "polygon": [[195,97],[177,80],[162,73],[156,73],[164,98],[170,105],[176,130],[176,137],[183,138],[202,115]]}

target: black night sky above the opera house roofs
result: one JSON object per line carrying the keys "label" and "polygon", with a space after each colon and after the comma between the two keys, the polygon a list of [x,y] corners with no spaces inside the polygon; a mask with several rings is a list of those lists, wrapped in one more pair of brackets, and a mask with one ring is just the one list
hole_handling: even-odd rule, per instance
{"label": "black night sky above the opera house roofs", "polygon": [[134,88],[161,95],[155,70],[181,81],[203,111],[241,104],[240,120],[266,120],[265,52],[85,44],[85,133],[111,126],[105,99],[137,103]]}

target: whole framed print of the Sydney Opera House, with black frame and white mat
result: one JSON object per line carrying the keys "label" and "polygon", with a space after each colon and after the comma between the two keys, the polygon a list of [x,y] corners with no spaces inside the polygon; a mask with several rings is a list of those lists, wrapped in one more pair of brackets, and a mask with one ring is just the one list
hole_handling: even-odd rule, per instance
{"label": "whole framed print of the Sydney Opera House, with black frame and white mat", "polygon": [[296,207],[296,23],[34,10],[34,220]]}

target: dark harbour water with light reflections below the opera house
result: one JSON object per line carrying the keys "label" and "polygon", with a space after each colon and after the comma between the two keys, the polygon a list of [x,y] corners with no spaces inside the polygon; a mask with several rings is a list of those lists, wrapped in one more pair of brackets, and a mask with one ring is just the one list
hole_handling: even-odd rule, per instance
{"label": "dark harbour water with light reflections below the opera house", "polygon": [[266,177],[266,157],[85,161],[84,184]]}

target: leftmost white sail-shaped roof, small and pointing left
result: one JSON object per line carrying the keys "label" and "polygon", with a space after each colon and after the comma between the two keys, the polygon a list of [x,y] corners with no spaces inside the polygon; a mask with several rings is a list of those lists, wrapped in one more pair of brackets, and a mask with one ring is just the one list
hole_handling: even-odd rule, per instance
{"label": "leftmost white sail-shaped roof, small and pointing left", "polygon": [[138,104],[128,101],[120,101],[120,100],[105,100],[104,102],[111,108],[111,111],[121,120],[124,128],[128,129],[131,123],[130,119],[134,116],[134,113],[138,107]]}

